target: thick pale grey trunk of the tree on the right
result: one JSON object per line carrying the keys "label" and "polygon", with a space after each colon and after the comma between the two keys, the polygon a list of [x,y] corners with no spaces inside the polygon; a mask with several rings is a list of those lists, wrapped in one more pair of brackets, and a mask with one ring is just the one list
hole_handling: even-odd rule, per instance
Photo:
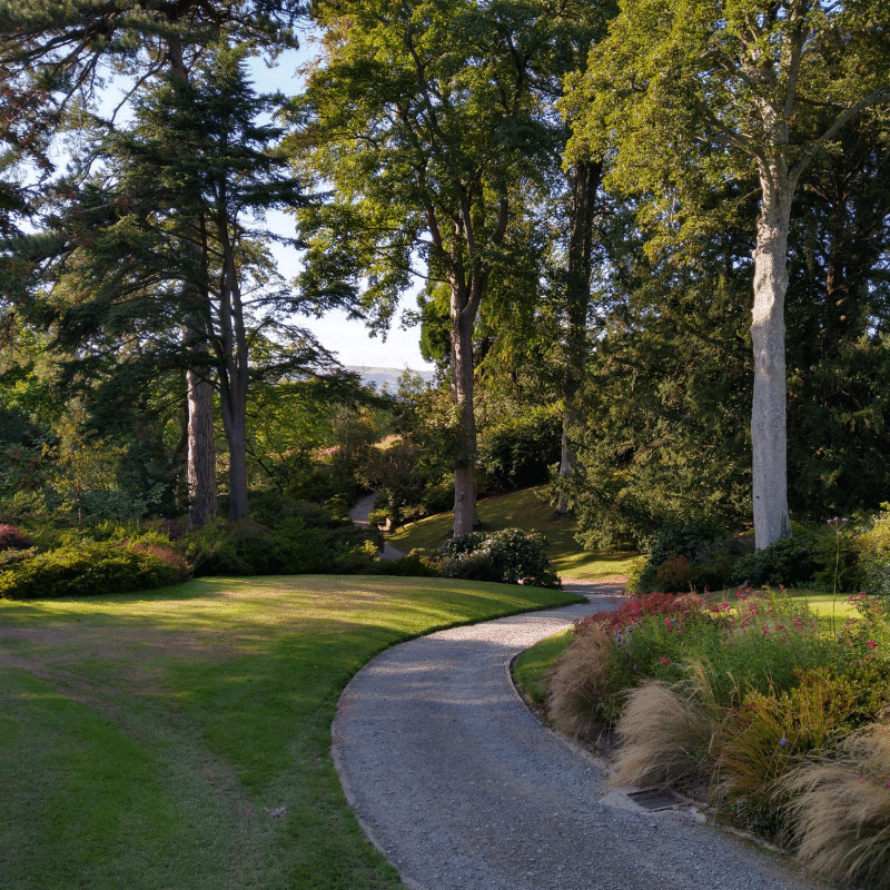
{"label": "thick pale grey trunk of the tree on the right", "polygon": [[788,512],[788,446],[784,299],[788,290],[788,230],[794,185],[782,171],[761,176],[763,198],[754,249],[754,545],[769,546],[791,532]]}

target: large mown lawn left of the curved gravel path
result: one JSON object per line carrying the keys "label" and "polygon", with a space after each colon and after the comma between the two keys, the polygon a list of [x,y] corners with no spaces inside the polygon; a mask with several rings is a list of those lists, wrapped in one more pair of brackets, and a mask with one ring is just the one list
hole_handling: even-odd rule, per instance
{"label": "large mown lawn left of the curved gravel path", "polygon": [[334,576],[0,601],[0,884],[400,887],[328,754],[340,690],[399,640],[566,602]]}

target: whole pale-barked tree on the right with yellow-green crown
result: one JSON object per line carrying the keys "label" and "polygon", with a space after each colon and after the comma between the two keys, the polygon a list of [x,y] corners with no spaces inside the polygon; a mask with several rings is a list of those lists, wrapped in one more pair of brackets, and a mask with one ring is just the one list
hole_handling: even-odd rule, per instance
{"label": "whole pale-barked tree on the right with yellow-green crown", "polygon": [[[650,192],[680,237],[686,172],[753,170],[751,413],[756,546],[790,533],[784,298],[791,207],[803,171],[866,109],[890,101],[884,3],[626,0],[568,107],[576,157],[616,150],[609,180]],[[681,226],[685,222],[685,228]]]}

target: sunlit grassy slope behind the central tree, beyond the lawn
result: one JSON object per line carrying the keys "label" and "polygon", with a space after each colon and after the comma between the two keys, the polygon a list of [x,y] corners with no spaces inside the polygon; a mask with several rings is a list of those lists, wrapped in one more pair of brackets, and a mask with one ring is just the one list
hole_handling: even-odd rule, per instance
{"label": "sunlit grassy slope behind the central tree, beyond the lawn", "polygon": [[[556,573],[565,577],[594,581],[626,575],[639,560],[635,552],[590,552],[575,541],[577,523],[571,516],[558,516],[543,495],[545,488],[526,488],[522,492],[485,497],[478,502],[482,531],[523,528],[541,532],[547,538],[547,555]],[[452,535],[454,518],[451,513],[439,513],[409,523],[389,538],[405,552],[414,547],[435,550]]]}

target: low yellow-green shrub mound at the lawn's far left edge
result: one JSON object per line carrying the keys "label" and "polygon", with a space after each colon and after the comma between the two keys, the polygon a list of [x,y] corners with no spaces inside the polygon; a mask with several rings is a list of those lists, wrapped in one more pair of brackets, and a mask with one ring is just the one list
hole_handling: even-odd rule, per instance
{"label": "low yellow-green shrub mound at the lawn's far left edge", "polygon": [[180,578],[181,565],[147,548],[81,543],[40,553],[0,571],[0,597],[44,600],[152,590]]}

